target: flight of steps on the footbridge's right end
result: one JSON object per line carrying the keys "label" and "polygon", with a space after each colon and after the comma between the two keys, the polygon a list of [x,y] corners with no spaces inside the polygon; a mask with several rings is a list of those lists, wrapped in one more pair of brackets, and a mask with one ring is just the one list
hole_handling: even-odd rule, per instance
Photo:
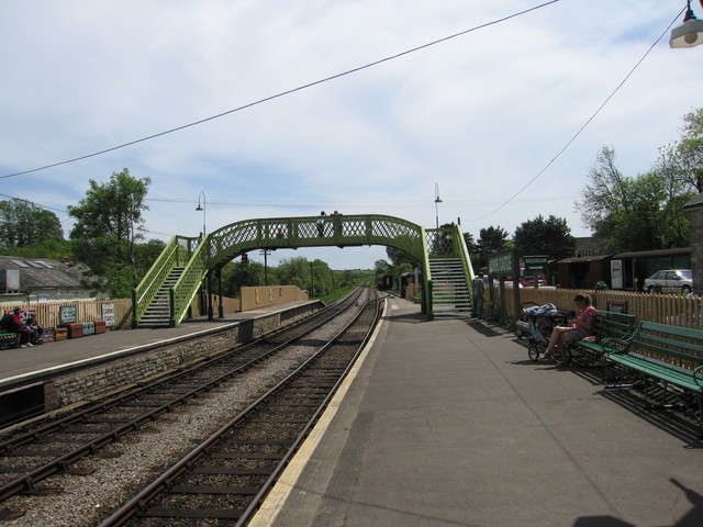
{"label": "flight of steps on the footbridge's right end", "polygon": [[471,293],[460,258],[432,258],[432,311],[437,316],[469,316]]}

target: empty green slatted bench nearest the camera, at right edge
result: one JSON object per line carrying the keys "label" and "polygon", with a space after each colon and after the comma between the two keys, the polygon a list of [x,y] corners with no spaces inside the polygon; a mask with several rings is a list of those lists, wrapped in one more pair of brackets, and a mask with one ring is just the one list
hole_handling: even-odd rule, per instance
{"label": "empty green slatted bench nearest the camera, at right edge", "polygon": [[609,365],[635,372],[645,386],[647,404],[654,382],[663,386],[665,394],[680,395],[703,429],[703,330],[643,321],[629,337],[605,345],[613,348],[604,355],[606,382]]}

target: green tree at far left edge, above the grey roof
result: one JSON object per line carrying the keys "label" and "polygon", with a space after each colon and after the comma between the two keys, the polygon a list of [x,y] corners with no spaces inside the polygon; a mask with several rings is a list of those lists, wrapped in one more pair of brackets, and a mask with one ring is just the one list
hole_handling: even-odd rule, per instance
{"label": "green tree at far left edge, above the grey roof", "polygon": [[12,249],[64,240],[62,224],[51,211],[13,198],[0,201],[0,246]]}

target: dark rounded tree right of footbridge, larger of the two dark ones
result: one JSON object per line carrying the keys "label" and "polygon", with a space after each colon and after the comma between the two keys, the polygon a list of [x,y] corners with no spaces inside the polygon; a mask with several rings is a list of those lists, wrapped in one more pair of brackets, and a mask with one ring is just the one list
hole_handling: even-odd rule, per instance
{"label": "dark rounded tree right of footbridge, larger of the two dark ones", "polygon": [[547,255],[554,259],[573,256],[576,239],[566,218],[549,215],[547,220],[539,214],[515,229],[513,236],[515,249],[521,255]]}

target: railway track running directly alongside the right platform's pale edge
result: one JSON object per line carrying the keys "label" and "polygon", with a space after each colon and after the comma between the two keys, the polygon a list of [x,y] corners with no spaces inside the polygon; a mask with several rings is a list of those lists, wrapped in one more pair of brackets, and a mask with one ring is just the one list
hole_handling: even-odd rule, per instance
{"label": "railway track running directly alongside the right platform's pale edge", "polygon": [[364,348],[379,312],[378,300],[369,302],[303,365],[100,527],[246,525]]}

